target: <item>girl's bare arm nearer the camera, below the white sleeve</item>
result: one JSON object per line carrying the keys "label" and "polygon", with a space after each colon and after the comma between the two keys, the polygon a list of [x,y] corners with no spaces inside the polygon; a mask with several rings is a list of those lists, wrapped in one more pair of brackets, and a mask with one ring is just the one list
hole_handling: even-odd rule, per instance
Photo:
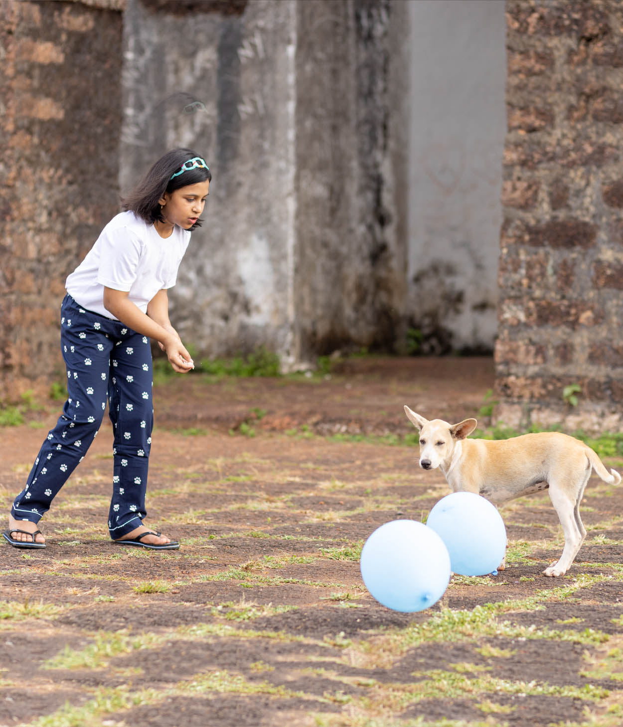
{"label": "girl's bare arm nearer the camera, below the white sleeve", "polygon": [[[155,297],[158,297],[158,293]],[[151,302],[153,302],[153,299]],[[151,305],[151,302],[149,305]],[[128,299],[128,293],[126,291],[104,287],[104,308],[109,313],[112,313],[115,318],[118,318],[121,323],[128,326],[128,328],[161,343],[174,371],[177,371],[179,374],[185,374],[193,368],[193,360],[190,358],[190,353],[182,345],[177,333],[171,330],[172,326],[170,322],[168,325],[171,326],[171,329],[166,329],[158,321],[147,316]],[[156,310],[158,310],[158,304],[156,304]],[[166,321],[169,321],[168,311],[166,313]]]}

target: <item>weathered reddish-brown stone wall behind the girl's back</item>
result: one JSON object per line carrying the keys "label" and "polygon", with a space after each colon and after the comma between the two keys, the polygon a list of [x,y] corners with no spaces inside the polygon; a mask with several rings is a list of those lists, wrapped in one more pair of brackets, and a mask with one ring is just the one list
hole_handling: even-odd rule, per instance
{"label": "weathered reddish-brown stone wall behind the girl's back", "polygon": [[119,9],[0,3],[0,400],[64,377],[65,277],[118,210]]}

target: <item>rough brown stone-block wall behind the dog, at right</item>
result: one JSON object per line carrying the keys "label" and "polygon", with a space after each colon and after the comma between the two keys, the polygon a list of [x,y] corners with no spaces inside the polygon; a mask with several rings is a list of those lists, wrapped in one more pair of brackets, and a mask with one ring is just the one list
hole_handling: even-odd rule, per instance
{"label": "rough brown stone-block wall behind the dog, at right", "polygon": [[[497,418],[615,430],[623,404],[623,4],[507,0]],[[580,387],[578,403],[565,387]]]}

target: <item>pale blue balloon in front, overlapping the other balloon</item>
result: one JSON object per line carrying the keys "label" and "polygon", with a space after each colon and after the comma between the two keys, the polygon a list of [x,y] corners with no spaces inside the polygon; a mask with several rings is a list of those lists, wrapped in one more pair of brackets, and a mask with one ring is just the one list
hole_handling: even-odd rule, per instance
{"label": "pale blue balloon in front, overlapping the other balloon", "polygon": [[377,528],[361,550],[361,577],[383,606],[422,611],[436,603],[450,581],[450,556],[441,538],[414,520]]}

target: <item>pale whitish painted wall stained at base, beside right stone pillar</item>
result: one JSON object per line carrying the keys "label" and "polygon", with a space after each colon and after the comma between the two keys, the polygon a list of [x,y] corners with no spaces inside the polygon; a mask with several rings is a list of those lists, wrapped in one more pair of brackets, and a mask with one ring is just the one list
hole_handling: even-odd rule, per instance
{"label": "pale whitish painted wall stained at base, beside right stone pillar", "polygon": [[409,0],[409,310],[492,348],[505,113],[504,0]]}

